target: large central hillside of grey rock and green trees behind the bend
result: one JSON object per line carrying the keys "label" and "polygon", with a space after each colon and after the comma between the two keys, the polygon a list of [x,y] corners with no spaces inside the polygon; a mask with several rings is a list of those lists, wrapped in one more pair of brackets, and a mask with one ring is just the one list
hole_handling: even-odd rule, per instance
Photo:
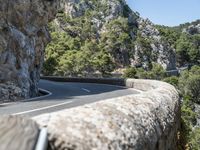
{"label": "large central hillside of grey rock and green trees behind the bend", "polygon": [[71,0],[49,25],[44,74],[107,74],[127,66],[175,69],[174,49],[125,0]]}

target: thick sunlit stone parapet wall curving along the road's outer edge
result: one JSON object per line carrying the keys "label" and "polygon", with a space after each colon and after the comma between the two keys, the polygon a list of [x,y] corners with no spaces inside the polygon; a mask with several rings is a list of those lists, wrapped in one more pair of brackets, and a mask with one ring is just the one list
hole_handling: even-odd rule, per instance
{"label": "thick sunlit stone parapet wall curving along the road's outer edge", "polygon": [[126,80],[140,94],[35,117],[56,150],[173,150],[180,125],[179,95],[167,83]]}

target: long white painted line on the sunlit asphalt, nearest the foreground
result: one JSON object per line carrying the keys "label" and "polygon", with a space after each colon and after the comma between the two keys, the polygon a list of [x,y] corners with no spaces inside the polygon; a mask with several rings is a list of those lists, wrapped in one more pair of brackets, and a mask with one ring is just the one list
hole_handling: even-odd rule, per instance
{"label": "long white painted line on the sunlit asphalt, nearest the foreground", "polygon": [[41,111],[41,110],[45,110],[45,109],[49,109],[49,108],[54,108],[54,107],[58,107],[58,106],[62,106],[62,105],[70,104],[70,103],[72,103],[72,101],[68,101],[68,102],[64,102],[64,103],[60,103],[60,104],[56,104],[56,105],[51,105],[51,106],[47,106],[47,107],[42,107],[42,108],[38,108],[38,109],[23,111],[23,112],[19,112],[19,113],[14,113],[12,115],[15,116],[15,115],[28,114],[28,113],[32,113],[32,112],[36,112],[36,111]]}

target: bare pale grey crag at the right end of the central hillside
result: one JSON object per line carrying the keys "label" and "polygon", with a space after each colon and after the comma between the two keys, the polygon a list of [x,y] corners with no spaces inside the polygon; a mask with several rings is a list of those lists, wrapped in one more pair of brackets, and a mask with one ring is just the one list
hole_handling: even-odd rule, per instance
{"label": "bare pale grey crag at the right end of the central hillside", "polygon": [[[145,52],[145,47],[141,42],[135,42],[135,60],[133,65],[144,66],[148,68],[150,62],[161,64],[166,70],[176,69],[176,52],[175,49],[161,38],[159,31],[154,27],[154,24],[146,19],[138,19],[138,33],[142,40],[148,41],[149,49]],[[146,54],[148,53],[148,55]]]}

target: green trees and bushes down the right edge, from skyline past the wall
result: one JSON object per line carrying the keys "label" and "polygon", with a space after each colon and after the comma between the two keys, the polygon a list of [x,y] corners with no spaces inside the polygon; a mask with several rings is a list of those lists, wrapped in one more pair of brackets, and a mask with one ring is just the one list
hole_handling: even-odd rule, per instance
{"label": "green trees and bushes down the right edge, from skyline past the wall", "polygon": [[176,50],[177,66],[188,66],[178,77],[163,79],[174,85],[182,97],[179,145],[184,150],[200,149],[200,33],[195,28],[198,24],[200,20],[177,27],[157,26],[162,38]]}

